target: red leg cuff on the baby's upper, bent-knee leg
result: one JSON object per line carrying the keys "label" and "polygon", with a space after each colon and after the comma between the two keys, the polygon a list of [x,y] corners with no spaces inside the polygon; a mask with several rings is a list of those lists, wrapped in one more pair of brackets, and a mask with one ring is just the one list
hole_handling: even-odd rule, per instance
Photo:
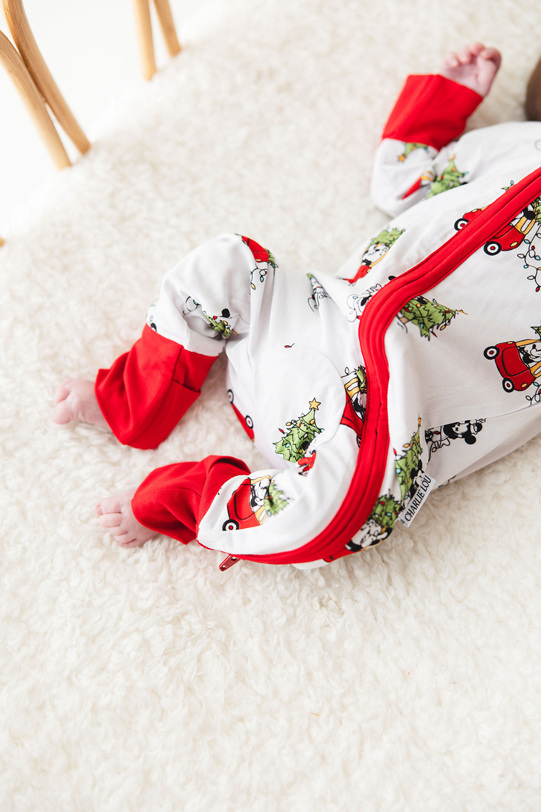
{"label": "red leg cuff on the baby's upper, bent-knee leg", "polygon": [[97,402],[114,436],[156,448],[200,395],[216,358],[188,352],[145,325],[130,352],[97,374]]}

